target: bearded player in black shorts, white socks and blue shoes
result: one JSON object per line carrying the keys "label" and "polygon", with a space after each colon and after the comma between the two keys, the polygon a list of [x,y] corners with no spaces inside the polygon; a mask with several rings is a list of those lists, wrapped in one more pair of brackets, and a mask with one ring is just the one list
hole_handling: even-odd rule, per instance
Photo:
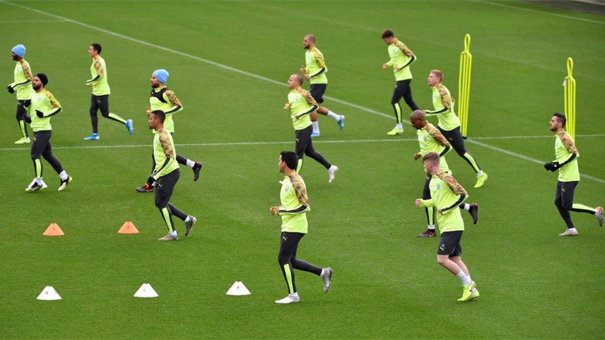
{"label": "bearded player in black shorts, white socks and blue shoes", "polygon": [[307,51],[304,54],[306,66],[301,67],[301,74],[305,79],[310,81],[311,96],[319,106],[317,111],[311,114],[311,122],[313,123],[313,133],[311,134],[311,137],[321,136],[321,132],[319,132],[319,122],[317,121],[318,113],[336,120],[338,127],[342,131],[344,128],[344,116],[335,114],[328,108],[321,106],[321,103],[324,102],[325,88],[328,86],[328,77],[325,76],[328,72],[328,68],[325,66],[324,54],[315,47],[315,35],[307,34],[304,36],[302,45]]}

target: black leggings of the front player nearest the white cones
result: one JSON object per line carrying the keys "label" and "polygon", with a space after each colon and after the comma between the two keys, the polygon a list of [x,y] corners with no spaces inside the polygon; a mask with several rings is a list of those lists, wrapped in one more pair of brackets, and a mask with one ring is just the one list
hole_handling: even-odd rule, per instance
{"label": "black leggings of the front player nearest the white cones", "polygon": [[280,235],[280,253],[277,255],[277,261],[280,263],[281,272],[284,274],[284,280],[286,280],[286,286],[290,294],[296,293],[294,269],[321,275],[320,267],[296,258],[298,243],[304,235],[301,232],[286,231],[281,232]]}

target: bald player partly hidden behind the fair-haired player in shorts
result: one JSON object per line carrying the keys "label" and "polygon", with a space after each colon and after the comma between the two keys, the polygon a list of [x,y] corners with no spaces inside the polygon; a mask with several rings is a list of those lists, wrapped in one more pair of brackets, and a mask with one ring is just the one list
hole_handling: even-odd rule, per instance
{"label": "bald player partly hidden behind the fair-haired player in shorts", "polygon": [[[414,154],[414,160],[424,157],[428,152],[437,152],[439,154],[439,166],[451,175],[450,167],[445,161],[445,154],[450,152],[451,145],[448,140],[443,137],[439,129],[433,124],[427,122],[425,114],[420,110],[416,110],[410,114],[410,123],[416,129],[418,135],[418,143],[420,144],[420,151]],[[427,180],[424,182],[424,189],[422,191],[422,199],[429,200],[431,198],[431,191],[429,183],[431,181],[431,175],[427,174]],[[477,224],[477,218],[479,217],[479,205],[463,203],[460,205],[461,209],[465,209],[473,217],[473,224]],[[434,237],[435,236],[435,208],[425,207],[427,213],[427,230],[417,237]]]}

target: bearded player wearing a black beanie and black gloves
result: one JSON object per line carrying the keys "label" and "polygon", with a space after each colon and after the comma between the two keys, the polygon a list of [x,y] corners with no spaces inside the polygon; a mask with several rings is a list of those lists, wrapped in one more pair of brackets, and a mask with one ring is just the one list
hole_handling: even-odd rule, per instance
{"label": "bearded player wearing a black beanie and black gloves", "polygon": [[48,77],[44,73],[37,73],[32,80],[31,86],[34,90],[30,94],[30,112],[31,130],[34,132],[34,142],[31,143],[31,160],[34,163],[34,174],[36,177],[27,186],[25,191],[36,192],[48,188],[42,180],[42,161],[40,156],[50,163],[54,171],[59,174],[61,184],[59,191],[71,183],[71,176],[65,172],[63,166],[53,155],[53,149],[50,146],[50,136],[52,128],[50,126],[50,117],[61,112],[61,104],[56,100],[52,93],[44,87],[48,84]]}

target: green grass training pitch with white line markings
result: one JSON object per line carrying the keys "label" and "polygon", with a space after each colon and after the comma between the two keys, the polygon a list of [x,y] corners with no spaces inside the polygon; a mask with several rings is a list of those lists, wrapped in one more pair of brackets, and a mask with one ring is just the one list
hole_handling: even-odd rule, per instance
{"label": "green grass training pitch with white line markings", "polygon": [[[49,188],[24,192],[33,166],[28,147],[13,145],[15,97],[2,91],[1,338],[603,338],[605,230],[574,214],[580,236],[558,237],[557,178],[538,164],[554,159],[548,121],[563,110],[571,56],[588,176],[575,201],[604,203],[603,17],[477,1],[0,0],[0,13],[1,79],[12,82],[10,48],[24,44],[64,107],[51,143],[74,178],[57,192],[44,163]],[[418,56],[411,84],[422,108],[432,108],[425,78],[433,68],[457,97],[462,38],[473,37],[467,147],[489,174],[485,187],[473,189],[474,172],[448,155],[481,206],[477,226],[465,216],[462,240],[481,292],[471,303],[456,301],[461,287],[436,263],[437,239],[416,238],[425,228],[413,204],[424,174],[413,161],[414,129],[385,134],[394,124],[393,74],[381,70],[385,27]],[[307,159],[313,211],[298,256],[335,274],[324,294],[318,278],[297,272],[301,303],[276,306],[287,290],[276,261],[280,221],[268,208],[279,200],[278,154],[294,146],[282,108],[306,33],[316,34],[329,67],[325,106],[347,118],[342,132],[320,119],[314,143],[340,171],[329,185]],[[111,109],[134,119],[133,136],[99,117],[101,140],[82,140],[91,132],[84,82],[93,42],[103,46]],[[157,68],[169,70],[185,107],[175,116],[177,151],[204,163],[195,183],[181,167],[171,201],[198,224],[172,243],[155,241],[166,227],[152,195],[134,191],[149,172],[145,108]],[[140,234],[116,234],[126,220]],[[43,237],[51,222],[66,235]],[[252,295],[225,295],[234,281]],[[159,298],[133,298],[142,283]],[[36,300],[47,285],[61,301]]]}

